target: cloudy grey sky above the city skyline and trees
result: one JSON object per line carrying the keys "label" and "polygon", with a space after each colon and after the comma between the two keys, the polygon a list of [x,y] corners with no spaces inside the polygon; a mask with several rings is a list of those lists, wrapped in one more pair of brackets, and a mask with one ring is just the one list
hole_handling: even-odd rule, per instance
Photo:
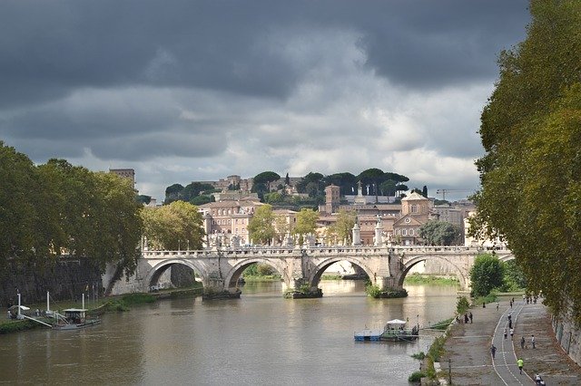
{"label": "cloudy grey sky above the city skyline and trees", "polygon": [[527,5],[5,0],[0,140],[37,164],[134,169],[158,202],[175,183],[369,168],[465,198]]}

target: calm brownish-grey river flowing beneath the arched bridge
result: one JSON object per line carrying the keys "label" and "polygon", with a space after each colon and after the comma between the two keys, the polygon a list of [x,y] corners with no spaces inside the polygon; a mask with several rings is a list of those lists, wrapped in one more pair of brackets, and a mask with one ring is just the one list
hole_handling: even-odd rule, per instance
{"label": "calm brownish-grey river flowing beneath the arched bridge", "polygon": [[80,331],[0,335],[0,383],[406,385],[430,337],[354,342],[353,331],[450,317],[454,286],[408,285],[371,299],[360,281],[321,281],[320,299],[288,300],[281,283],[248,283],[241,299],[201,297],[133,306]]}

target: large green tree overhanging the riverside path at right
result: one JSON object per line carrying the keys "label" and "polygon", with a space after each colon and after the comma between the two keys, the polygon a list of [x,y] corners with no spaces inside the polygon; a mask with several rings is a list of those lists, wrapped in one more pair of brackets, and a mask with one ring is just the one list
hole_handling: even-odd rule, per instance
{"label": "large green tree overhanging the riverside path at right", "polygon": [[556,313],[581,320],[581,3],[532,0],[481,117],[472,229],[498,234]]}

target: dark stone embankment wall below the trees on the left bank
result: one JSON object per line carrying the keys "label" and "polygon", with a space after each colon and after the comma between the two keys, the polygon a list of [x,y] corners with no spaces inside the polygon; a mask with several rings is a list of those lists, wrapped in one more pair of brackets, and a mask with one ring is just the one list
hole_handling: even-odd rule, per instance
{"label": "dark stone embankment wall below the trees on the left bank", "polygon": [[0,305],[46,302],[46,291],[54,301],[76,299],[82,294],[102,293],[103,282],[99,268],[83,257],[64,257],[53,266],[39,268],[9,262],[0,274]]}

